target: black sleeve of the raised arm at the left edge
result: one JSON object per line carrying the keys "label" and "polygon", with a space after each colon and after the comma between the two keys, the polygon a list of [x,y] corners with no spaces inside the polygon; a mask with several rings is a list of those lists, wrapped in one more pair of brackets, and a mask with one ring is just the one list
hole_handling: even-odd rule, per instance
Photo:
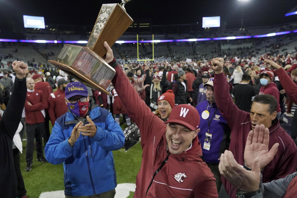
{"label": "black sleeve of the raised arm at the left edge", "polygon": [[[15,77],[12,94],[10,95],[6,110],[0,120],[0,128],[4,128],[4,131],[7,132],[11,139],[15,135],[15,131],[18,129],[22,118],[26,94],[26,78],[20,80]],[[0,133],[3,133],[3,131],[0,131]]]}

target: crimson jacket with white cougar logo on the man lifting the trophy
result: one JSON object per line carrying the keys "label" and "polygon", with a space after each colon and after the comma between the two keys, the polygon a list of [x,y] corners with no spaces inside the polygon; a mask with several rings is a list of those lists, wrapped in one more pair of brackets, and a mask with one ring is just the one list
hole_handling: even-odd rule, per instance
{"label": "crimson jacket with white cougar logo on the man lifting the trophy", "polygon": [[[115,59],[111,63],[114,62]],[[166,124],[141,100],[121,67],[117,65],[115,70],[116,75],[112,83],[126,106],[129,117],[140,130],[143,149],[134,197],[218,197],[214,176],[199,157],[202,151],[198,138],[193,140],[192,148],[188,151],[168,156]],[[165,165],[152,180],[154,173],[166,157],[168,160]],[[146,195],[147,189],[149,190]]]}

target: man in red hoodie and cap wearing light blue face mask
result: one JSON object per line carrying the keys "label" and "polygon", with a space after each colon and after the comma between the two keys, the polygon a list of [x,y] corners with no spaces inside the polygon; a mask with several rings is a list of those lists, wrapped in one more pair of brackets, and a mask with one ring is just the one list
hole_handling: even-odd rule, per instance
{"label": "man in red hoodie and cap wearing light blue face mask", "polygon": [[277,85],[272,82],[274,78],[274,74],[272,71],[264,71],[260,74],[260,83],[262,87],[260,88],[259,95],[262,94],[270,94],[277,99],[277,119],[279,119],[281,112],[280,112],[280,104],[279,104],[279,90],[277,89]]}

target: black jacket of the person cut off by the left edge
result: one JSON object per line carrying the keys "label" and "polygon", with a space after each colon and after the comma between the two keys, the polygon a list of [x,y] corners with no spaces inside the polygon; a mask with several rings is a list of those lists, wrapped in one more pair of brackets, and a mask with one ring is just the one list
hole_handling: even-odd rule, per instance
{"label": "black jacket of the person cut off by the left edge", "polygon": [[22,118],[26,94],[26,78],[19,80],[16,77],[7,108],[0,120],[0,197],[17,197],[12,139]]}

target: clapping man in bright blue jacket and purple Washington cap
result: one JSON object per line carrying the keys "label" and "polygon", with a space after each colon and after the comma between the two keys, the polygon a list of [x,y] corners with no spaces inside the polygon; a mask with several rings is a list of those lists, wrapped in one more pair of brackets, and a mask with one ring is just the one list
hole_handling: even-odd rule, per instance
{"label": "clapping man in bright blue jacket and purple Washington cap", "polygon": [[51,164],[64,163],[65,198],[114,197],[116,171],[112,150],[124,145],[124,134],[112,114],[89,103],[88,90],[80,82],[65,90],[67,113],[53,126],[45,146]]}

